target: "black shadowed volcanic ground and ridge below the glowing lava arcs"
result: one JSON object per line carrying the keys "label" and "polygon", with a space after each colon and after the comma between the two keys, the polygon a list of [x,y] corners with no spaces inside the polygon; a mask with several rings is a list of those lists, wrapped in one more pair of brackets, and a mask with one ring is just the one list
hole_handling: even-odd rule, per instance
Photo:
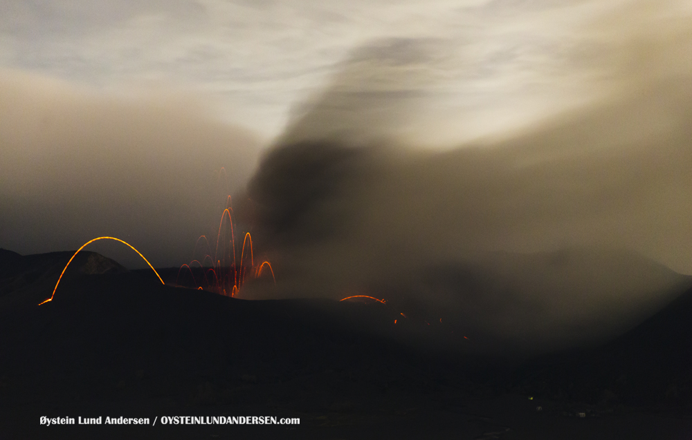
{"label": "black shadowed volcanic ground and ridge below the glowing lava arcs", "polygon": [[[692,291],[601,347],[482,359],[404,343],[420,323],[379,303],[237,300],[89,255],[37,307],[69,255],[2,256],[0,439],[692,438]],[[300,425],[39,425],[193,415]]]}

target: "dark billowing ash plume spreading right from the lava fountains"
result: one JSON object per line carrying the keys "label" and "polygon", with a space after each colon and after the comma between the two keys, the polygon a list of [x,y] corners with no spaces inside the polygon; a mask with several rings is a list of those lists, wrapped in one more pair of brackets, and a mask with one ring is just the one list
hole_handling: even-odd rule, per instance
{"label": "dark billowing ash plume spreading right from the lava fountains", "polygon": [[623,4],[536,66],[540,93],[581,101],[444,151],[397,135],[444,41],[356,50],[248,186],[278,284],[246,296],[370,294],[487,350],[592,342],[662,307],[689,285],[665,266],[692,273],[692,20]]}

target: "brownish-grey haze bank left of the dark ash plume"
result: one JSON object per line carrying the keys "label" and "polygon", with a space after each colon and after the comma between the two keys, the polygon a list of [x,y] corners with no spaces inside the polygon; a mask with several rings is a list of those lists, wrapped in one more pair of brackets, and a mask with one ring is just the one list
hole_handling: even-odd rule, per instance
{"label": "brownish-grey haze bank left of the dark ash plume", "polygon": [[[260,148],[165,88],[102,93],[6,70],[0,96],[0,246],[20,254],[115,236],[157,267],[188,262]],[[122,245],[89,250],[145,267]]]}

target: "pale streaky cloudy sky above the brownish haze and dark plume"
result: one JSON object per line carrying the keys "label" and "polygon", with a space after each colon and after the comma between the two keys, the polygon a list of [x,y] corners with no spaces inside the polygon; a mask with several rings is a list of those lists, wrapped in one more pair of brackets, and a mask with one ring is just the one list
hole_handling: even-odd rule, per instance
{"label": "pale streaky cloudy sky above the brownish haze and dark plume", "polygon": [[574,44],[574,26],[619,2],[599,3],[6,0],[0,67],[104,90],[163,84],[201,93],[221,119],[268,140],[356,48],[433,41],[432,75],[398,87],[434,95],[426,102],[438,113],[466,116],[438,134],[448,142],[523,124],[578,96],[555,66]]}

